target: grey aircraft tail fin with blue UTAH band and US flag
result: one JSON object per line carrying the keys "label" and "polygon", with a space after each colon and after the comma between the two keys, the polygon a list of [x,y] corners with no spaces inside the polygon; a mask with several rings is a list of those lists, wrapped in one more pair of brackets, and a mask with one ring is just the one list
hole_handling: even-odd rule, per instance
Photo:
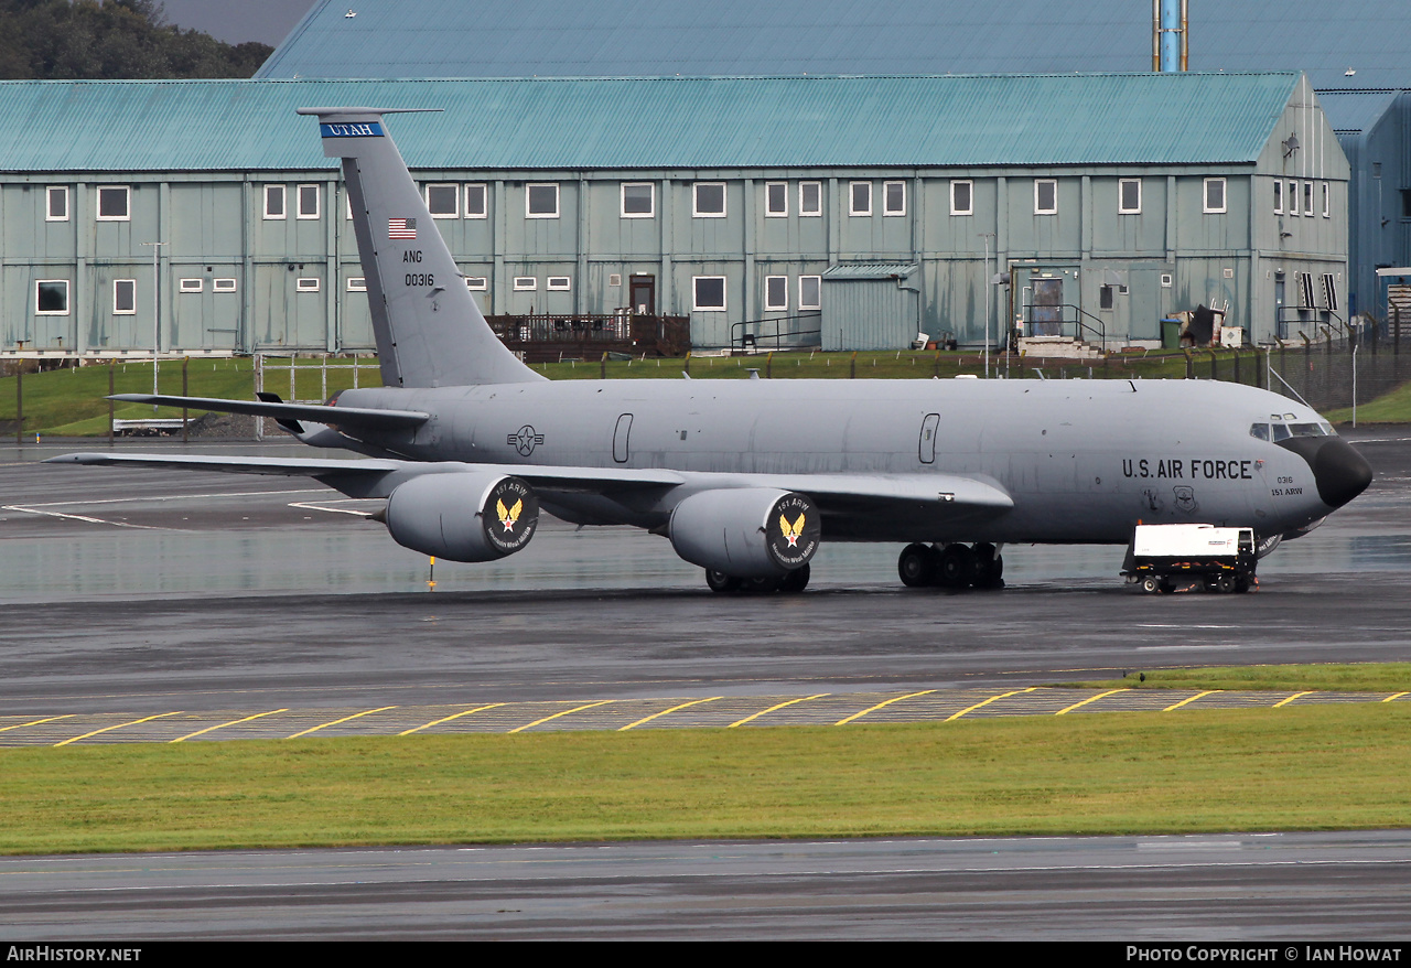
{"label": "grey aircraft tail fin with blue UTAH band and US flag", "polygon": [[343,159],[388,387],[542,380],[490,329],[436,230],[382,116],[392,109],[301,107],[319,119],[323,154]]}

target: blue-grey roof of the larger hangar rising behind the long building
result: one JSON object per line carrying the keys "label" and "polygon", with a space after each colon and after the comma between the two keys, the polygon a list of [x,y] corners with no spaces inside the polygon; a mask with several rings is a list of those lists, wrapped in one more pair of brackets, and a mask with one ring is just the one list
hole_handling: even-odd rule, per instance
{"label": "blue-grey roof of the larger hangar rising behind the long building", "polygon": [[[356,11],[349,17],[349,8]],[[1405,0],[1192,3],[1192,71],[1411,87]],[[1146,0],[319,0],[261,78],[1126,73]],[[1353,71],[1353,75],[1348,75]]]}

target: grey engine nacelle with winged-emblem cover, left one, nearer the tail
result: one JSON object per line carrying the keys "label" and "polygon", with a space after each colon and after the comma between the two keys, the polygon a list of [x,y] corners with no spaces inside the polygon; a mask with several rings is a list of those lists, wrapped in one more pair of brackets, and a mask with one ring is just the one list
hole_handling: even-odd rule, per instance
{"label": "grey engine nacelle with winged-emblem cover, left one, nearer the tail", "polygon": [[423,474],[396,485],[385,521],[402,547],[452,562],[494,562],[533,538],[539,498],[505,474]]}

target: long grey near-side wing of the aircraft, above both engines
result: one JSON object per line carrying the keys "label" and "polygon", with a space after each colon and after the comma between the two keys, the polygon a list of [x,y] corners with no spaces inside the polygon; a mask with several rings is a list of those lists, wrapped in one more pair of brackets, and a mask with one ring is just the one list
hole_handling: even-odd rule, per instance
{"label": "long grey near-side wing of the aircraft, above both engines", "polygon": [[[337,409],[337,408],[325,408]],[[745,474],[665,468],[555,467],[536,464],[468,464],[461,461],[329,460],[315,457],[226,457],[219,454],[73,453],[49,457],[51,464],[165,467],[234,474],[312,477],[354,497],[387,497],[402,481],[422,474],[494,471],[512,474],[547,491],[614,494],[642,488],[663,491],[684,485],[690,492],[741,487],[773,487],[807,494],[827,514],[866,515],[900,505],[941,505],[955,514],[999,514],[1015,507],[996,483],[964,474]]]}

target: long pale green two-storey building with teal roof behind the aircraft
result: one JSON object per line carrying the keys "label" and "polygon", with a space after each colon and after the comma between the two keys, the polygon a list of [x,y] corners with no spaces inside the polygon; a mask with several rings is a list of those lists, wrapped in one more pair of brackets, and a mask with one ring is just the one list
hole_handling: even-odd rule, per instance
{"label": "long pale green two-storey building with teal roof behind the aircraft", "polygon": [[1348,162],[1297,73],[6,82],[4,347],[147,350],[154,286],[164,350],[371,347],[293,113],[330,103],[444,109],[391,130],[487,313],[899,349],[979,344],[991,298],[992,339],[1342,312]]}

